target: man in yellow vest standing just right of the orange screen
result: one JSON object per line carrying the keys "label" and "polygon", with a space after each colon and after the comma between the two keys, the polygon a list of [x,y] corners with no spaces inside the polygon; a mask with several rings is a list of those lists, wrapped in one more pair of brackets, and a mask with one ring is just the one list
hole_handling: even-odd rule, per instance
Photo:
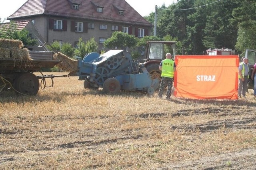
{"label": "man in yellow vest standing just right of the orange screen", "polygon": [[242,93],[242,96],[245,98],[249,78],[249,67],[247,63],[248,59],[244,58],[243,63],[238,67],[238,97],[241,97]]}

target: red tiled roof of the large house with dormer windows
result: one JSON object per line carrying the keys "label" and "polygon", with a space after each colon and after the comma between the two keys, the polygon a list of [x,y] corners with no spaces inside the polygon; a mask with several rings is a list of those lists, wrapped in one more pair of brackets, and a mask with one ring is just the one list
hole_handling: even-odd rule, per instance
{"label": "red tiled roof of the large house with dormer windows", "polygon": [[[115,21],[119,23],[131,23],[153,27],[125,0],[76,0],[79,10],[72,9],[70,0],[28,0],[14,14],[7,19],[28,17],[34,15],[52,15],[72,18],[83,18],[89,20]],[[103,12],[97,12],[92,4],[100,4]],[[123,9],[124,15],[119,15],[114,6]]]}

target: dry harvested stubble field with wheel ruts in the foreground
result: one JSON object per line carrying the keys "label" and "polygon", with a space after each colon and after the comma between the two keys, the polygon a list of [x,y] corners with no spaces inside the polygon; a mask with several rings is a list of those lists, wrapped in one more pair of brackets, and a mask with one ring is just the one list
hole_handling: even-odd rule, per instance
{"label": "dry harvested stubble field with wheel ruts in the foreground", "polygon": [[256,169],[252,90],[248,101],[168,101],[77,79],[36,96],[0,92],[1,170]]}

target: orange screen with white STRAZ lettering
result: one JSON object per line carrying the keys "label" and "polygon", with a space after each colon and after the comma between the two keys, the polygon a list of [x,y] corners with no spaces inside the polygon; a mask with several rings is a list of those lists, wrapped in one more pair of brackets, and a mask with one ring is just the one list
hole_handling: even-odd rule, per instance
{"label": "orange screen with white STRAZ lettering", "polygon": [[174,96],[238,99],[238,55],[176,56]]}

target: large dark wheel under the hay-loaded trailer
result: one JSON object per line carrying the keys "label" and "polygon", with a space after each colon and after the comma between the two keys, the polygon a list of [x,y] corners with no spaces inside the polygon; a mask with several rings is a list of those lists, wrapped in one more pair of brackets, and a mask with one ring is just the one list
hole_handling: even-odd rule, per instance
{"label": "large dark wheel under the hay-loaded trailer", "polygon": [[39,90],[39,80],[35,74],[22,73],[15,78],[14,89],[22,94],[36,95]]}

